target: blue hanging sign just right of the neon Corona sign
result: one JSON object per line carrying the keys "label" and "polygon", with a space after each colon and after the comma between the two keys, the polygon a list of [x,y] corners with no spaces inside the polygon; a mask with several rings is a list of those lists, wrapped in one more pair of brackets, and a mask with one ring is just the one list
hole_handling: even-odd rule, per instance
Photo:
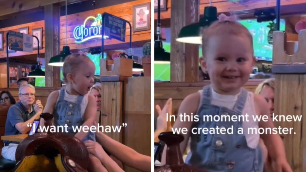
{"label": "blue hanging sign just right of the neon Corona sign", "polygon": [[108,13],[104,15],[105,35],[125,42],[126,21]]}

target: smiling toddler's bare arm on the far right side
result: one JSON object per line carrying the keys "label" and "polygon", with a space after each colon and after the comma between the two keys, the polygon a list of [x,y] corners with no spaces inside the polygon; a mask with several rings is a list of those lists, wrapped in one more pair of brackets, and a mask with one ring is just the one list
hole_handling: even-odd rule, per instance
{"label": "smiling toddler's bare arm on the far right side", "polygon": [[[254,95],[254,101],[257,109],[260,109],[258,114],[268,116],[267,122],[259,121],[259,128],[274,128],[267,101],[260,95]],[[277,172],[292,172],[291,167],[286,160],[284,144],[279,134],[264,133],[261,137],[263,138],[272,161],[276,164],[275,170]]]}

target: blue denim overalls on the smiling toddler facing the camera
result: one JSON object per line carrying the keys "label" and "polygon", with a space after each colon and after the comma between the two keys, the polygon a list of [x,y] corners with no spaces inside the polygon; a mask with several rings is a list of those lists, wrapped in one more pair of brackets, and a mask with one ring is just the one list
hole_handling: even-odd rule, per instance
{"label": "blue denim overalls on the smiling toddler facing the camera", "polygon": [[[242,88],[233,110],[211,104],[211,86],[205,86],[202,93],[202,104],[197,114],[199,122],[193,122],[192,128],[226,129],[233,125],[233,134],[192,134],[186,163],[206,169],[209,172],[262,172],[263,159],[259,145],[249,148],[244,134],[238,134],[242,122],[203,122],[203,115],[241,115],[248,91]],[[245,115],[245,114],[243,114]],[[247,132],[247,131],[244,131]]]}

